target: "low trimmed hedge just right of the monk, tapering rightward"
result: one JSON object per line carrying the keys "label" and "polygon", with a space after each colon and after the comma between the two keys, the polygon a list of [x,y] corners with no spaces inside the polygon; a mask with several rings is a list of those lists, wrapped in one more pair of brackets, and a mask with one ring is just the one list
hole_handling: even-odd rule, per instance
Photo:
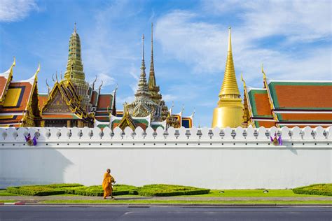
{"label": "low trimmed hedge just right of the monk, tapering rightward", "polygon": [[145,197],[172,197],[179,195],[208,194],[209,189],[186,187],[181,185],[153,184],[139,188],[138,194]]}

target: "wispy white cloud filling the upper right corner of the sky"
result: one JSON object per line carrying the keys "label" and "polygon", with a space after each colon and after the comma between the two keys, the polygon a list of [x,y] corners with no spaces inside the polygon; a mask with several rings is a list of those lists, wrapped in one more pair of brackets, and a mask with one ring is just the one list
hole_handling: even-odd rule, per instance
{"label": "wispy white cloud filling the upper right corner of the sky", "polygon": [[207,12],[242,20],[247,38],[286,36],[287,41],[315,41],[331,36],[331,7],[328,0],[202,1]]}

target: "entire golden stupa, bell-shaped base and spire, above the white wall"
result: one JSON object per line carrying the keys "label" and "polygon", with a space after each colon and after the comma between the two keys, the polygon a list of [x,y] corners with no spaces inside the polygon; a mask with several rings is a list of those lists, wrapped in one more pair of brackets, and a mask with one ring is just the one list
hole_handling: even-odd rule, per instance
{"label": "entire golden stupa, bell-shaped base and spire, above the white wall", "polygon": [[223,85],[219,92],[218,106],[214,108],[212,128],[239,127],[243,122],[243,104],[235,76],[230,28],[228,36],[228,55]]}

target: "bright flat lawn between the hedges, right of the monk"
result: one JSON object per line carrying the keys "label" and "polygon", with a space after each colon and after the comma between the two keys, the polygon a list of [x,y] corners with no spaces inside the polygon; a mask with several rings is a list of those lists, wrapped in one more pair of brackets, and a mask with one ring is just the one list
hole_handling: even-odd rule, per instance
{"label": "bright flat lawn between the hedges, right of the monk", "polygon": [[[223,191],[224,193],[220,193]],[[208,194],[177,196],[177,197],[328,197],[321,195],[295,194],[292,190],[210,190]],[[332,197],[331,197],[332,199]]]}

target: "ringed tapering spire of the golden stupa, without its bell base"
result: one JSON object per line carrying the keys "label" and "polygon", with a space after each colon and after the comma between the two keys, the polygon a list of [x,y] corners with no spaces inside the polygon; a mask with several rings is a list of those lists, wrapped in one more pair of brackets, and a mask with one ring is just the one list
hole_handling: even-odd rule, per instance
{"label": "ringed tapering spire of the golden stupa, without its bell base", "polygon": [[223,76],[223,85],[219,92],[219,97],[240,97],[239,87],[237,87],[237,81],[235,76],[232,42],[230,37],[230,27],[228,29],[228,54],[226,60],[226,68]]}

